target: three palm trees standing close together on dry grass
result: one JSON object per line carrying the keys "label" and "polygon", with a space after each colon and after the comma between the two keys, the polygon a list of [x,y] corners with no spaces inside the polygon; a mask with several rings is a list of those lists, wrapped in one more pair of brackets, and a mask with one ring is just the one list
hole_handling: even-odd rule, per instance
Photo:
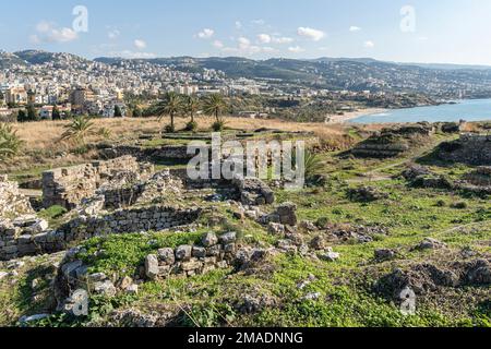
{"label": "three palm trees standing close together on dry grass", "polygon": [[165,130],[167,133],[173,133],[176,132],[176,117],[184,116],[190,118],[185,130],[195,131],[197,129],[195,116],[199,111],[215,117],[213,130],[221,131],[225,127],[225,120],[221,116],[227,108],[224,96],[219,94],[213,94],[200,99],[196,96],[182,96],[169,92],[163,99],[155,104],[149,111],[154,116],[157,116],[159,120],[164,117],[169,117],[170,123],[166,125]]}

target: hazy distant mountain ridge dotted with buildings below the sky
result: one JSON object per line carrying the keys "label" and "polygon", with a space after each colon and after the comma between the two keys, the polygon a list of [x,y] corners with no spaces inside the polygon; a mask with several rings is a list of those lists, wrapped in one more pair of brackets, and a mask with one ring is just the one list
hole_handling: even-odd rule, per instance
{"label": "hazy distant mountain ridge dotted with buildings below the sky", "polygon": [[[170,57],[154,59],[96,58],[108,65],[132,69],[131,64],[165,65],[200,73],[223,71],[232,79],[270,80],[291,88],[315,87],[348,91],[419,92],[444,97],[491,97],[491,68],[479,65],[420,64],[378,61],[371,58],[328,58],[311,60],[273,58],[252,60],[241,57]],[[0,68],[14,64],[49,64],[53,69],[85,69],[89,61],[70,53],[26,50],[0,52]],[[465,95],[464,94],[464,95]]]}

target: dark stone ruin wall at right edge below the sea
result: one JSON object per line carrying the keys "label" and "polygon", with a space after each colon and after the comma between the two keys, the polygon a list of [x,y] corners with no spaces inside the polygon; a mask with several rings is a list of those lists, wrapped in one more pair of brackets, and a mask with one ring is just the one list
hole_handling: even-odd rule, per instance
{"label": "dark stone ruin wall at right edge below the sea", "polygon": [[445,161],[491,166],[491,135],[462,134],[457,141],[442,143],[436,155]]}

